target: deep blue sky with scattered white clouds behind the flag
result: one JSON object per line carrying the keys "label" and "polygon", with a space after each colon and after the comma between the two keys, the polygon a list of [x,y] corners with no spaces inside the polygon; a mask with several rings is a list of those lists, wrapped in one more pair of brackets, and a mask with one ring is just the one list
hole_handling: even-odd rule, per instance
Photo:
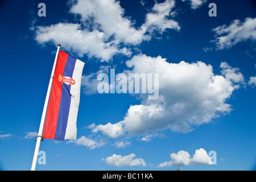
{"label": "deep blue sky with scattered white clouds behind the flag", "polygon": [[[256,169],[254,1],[0,5],[1,170],[31,168],[58,43],[85,62],[77,140],[45,139],[37,170]],[[98,93],[110,69],[158,73],[159,97]]]}

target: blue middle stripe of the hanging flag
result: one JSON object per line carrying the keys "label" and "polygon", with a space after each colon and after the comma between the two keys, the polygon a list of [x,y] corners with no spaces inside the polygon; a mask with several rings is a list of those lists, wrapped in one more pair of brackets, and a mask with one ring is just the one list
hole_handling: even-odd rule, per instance
{"label": "blue middle stripe of the hanging flag", "polygon": [[[64,68],[63,76],[69,76],[72,78],[73,71],[75,69],[76,58],[72,56],[68,56],[67,63]],[[70,94],[71,85],[67,85],[65,83],[62,84],[62,95],[60,101],[60,110],[59,117],[57,121],[56,131],[55,131],[55,140],[64,140],[65,133],[68,123],[68,114],[69,107],[71,102],[71,94]]]}

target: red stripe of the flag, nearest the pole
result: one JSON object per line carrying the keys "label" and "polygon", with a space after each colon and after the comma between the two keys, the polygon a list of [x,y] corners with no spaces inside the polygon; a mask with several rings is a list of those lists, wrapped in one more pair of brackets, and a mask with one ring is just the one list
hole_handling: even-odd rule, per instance
{"label": "red stripe of the flag, nearest the pole", "polygon": [[43,138],[55,139],[55,131],[58,121],[60,101],[62,94],[62,86],[59,81],[59,75],[63,75],[65,65],[67,63],[68,53],[63,51],[59,52],[59,56],[56,63],[54,72],[54,78],[52,81],[51,94],[49,97],[49,103],[46,113],[46,121],[44,123]]}

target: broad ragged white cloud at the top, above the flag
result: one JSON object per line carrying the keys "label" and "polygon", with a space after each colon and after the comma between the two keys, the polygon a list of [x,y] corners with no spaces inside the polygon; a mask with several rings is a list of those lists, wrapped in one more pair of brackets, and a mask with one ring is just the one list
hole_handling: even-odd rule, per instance
{"label": "broad ragged white cloud at the top, above the flag", "polygon": [[150,40],[152,32],[163,32],[167,28],[180,29],[178,23],[170,19],[174,2],[166,0],[155,3],[152,11],[146,15],[145,23],[135,27],[133,20],[124,16],[125,10],[119,1],[71,1],[69,13],[74,14],[78,22],[35,26],[35,40],[40,44],[61,43],[79,56],[86,54],[101,61],[109,61],[117,54],[130,56],[131,51],[127,47]]}

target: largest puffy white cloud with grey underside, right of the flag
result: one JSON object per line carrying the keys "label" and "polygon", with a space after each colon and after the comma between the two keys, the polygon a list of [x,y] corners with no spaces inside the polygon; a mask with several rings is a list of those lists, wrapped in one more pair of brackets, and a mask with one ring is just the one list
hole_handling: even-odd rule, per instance
{"label": "largest puffy white cloud with grey underside, right of the flag", "polygon": [[140,94],[142,104],[131,105],[122,121],[94,125],[92,132],[101,131],[111,138],[125,134],[146,135],[163,130],[188,133],[193,126],[202,125],[232,111],[226,101],[235,89],[244,84],[238,68],[222,62],[221,75],[215,75],[211,65],[197,63],[168,63],[161,56],[134,56],[126,62],[134,73],[159,73],[159,97],[148,100]]}

